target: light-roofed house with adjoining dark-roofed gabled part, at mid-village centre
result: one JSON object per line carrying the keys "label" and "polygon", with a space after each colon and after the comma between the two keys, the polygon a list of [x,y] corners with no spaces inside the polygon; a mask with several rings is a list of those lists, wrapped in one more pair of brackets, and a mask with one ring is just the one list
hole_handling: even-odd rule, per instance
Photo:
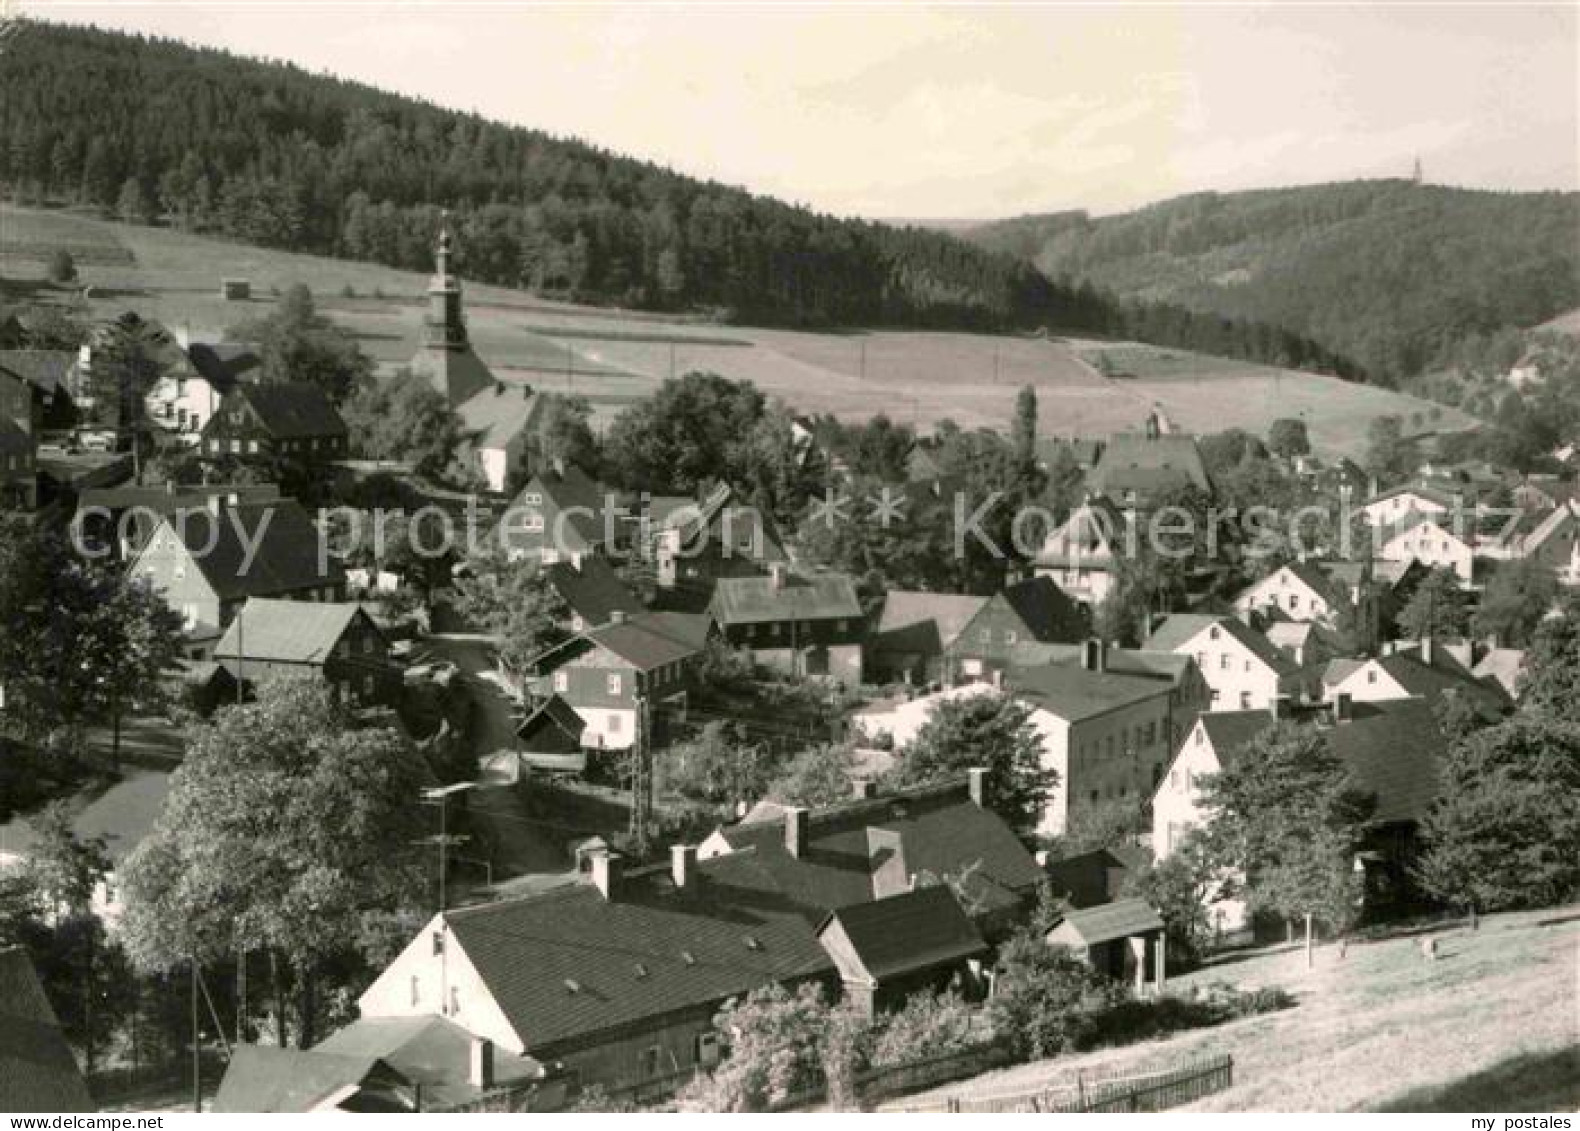
{"label": "light-roofed house with adjoining dark-roofed gabled part, at mid-village centre", "polygon": [[867,678],[986,679],[1016,663],[1022,644],[1074,644],[1087,632],[1085,608],[1046,577],[992,597],[891,589],[867,640]]}

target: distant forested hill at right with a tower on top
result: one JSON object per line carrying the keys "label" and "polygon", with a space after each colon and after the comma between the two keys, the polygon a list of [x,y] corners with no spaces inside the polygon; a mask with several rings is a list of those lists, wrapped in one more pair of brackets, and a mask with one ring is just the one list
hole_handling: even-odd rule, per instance
{"label": "distant forested hill at right with a tower on top", "polygon": [[964,232],[1054,278],[1275,322],[1400,379],[1471,333],[1580,305],[1580,194],[1370,180],[1199,193]]}

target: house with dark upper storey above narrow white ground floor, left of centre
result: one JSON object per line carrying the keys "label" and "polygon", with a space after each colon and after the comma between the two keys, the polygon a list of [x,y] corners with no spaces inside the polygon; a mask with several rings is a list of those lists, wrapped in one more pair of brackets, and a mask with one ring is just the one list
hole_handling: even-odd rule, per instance
{"label": "house with dark upper storey above narrow white ground floor, left of centre", "polygon": [[558,695],[581,717],[581,744],[626,750],[645,709],[684,701],[711,624],[695,613],[619,613],[540,656],[537,698]]}

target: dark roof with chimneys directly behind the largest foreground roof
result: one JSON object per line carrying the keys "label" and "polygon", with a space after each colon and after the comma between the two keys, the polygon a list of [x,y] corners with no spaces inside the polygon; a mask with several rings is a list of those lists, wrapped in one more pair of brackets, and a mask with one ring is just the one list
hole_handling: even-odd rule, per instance
{"label": "dark roof with chimneys directly behind the largest foreground roof", "polygon": [[[894,836],[908,875],[962,878],[975,913],[1014,908],[1036,891],[1041,870],[1010,826],[972,802],[962,780],[847,801],[807,817],[807,847],[792,856],[784,842],[785,807],[763,802],[719,831],[735,850],[755,848],[809,921],[885,894]],[[871,831],[886,836],[874,844]]]}

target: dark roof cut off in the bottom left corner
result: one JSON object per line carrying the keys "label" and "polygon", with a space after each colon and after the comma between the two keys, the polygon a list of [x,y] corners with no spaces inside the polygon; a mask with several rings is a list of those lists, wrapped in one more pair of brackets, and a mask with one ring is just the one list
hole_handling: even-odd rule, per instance
{"label": "dark roof cut off in the bottom left corner", "polygon": [[0,1110],[98,1110],[21,946],[0,949]]}

